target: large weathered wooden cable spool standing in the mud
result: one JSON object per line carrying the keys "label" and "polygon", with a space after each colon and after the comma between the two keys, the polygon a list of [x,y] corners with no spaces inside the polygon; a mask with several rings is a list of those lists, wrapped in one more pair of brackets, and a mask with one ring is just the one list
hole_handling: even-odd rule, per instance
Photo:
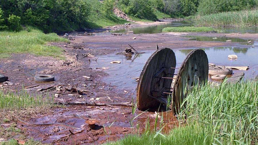
{"label": "large weathered wooden cable spool standing in the mud", "polygon": [[[186,86],[189,88],[208,79],[208,58],[201,49],[192,50],[187,55],[176,78],[174,78],[175,66],[175,53],[170,48],[157,50],[150,56],[143,67],[136,88],[139,110],[157,109],[160,103],[167,103],[168,95],[172,95],[171,107],[176,113],[185,97]],[[173,80],[175,80],[174,85],[172,85]]]}

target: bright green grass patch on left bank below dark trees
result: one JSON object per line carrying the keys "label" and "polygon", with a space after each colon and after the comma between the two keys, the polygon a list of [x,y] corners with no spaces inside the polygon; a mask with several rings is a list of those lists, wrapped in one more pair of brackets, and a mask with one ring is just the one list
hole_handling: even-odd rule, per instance
{"label": "bright green grass patch on left bank below dark trees", "polygon": [[31,53],[41,56],[62,57],[62,49],[56,46],[46,46],[47,42],[67,42],[55,33],[44,34],[32,29],[20,32],[0,32],[0,59],[9,57],[11,53]]}

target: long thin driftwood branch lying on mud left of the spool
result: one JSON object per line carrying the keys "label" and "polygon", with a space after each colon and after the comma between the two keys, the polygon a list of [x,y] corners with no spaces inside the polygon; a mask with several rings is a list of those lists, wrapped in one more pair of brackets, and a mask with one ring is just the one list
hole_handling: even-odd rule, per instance
{"label": "long thin driftwood branch lying on mud left of the spool", "polygon": [[132,107],[132,103],[131,102],[126,102],[126,103],[58,102],[56,104],[61,104],[61,105],[85,105],[85,106],[107,106],[107,105],[112,105],[112,106],[128,106],[128,107]]}

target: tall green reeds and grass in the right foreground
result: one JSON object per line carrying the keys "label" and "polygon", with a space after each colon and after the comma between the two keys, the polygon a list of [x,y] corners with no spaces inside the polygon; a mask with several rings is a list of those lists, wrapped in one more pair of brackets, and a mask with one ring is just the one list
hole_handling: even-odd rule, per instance
{"label": "tall green reeds and grass in the right foreground", "polygon": [[187,116],[187,123],[170,134],[147,131],[142,136],[131,135],[107,144],[258,143],[258,81],[196,86],[184,101],[187,103],[179,120]]}

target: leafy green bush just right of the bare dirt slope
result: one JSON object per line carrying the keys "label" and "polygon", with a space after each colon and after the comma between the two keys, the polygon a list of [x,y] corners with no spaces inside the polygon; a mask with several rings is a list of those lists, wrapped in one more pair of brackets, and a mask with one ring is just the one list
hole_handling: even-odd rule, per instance
{"label": "leafy green bush just right of the bare dirt slope", "polygon": [[124,8],[124,11],[127,14],[140,19],[148,19],[152,21],[157,20],[157,17],[154,14],[154,9],[151,7],[150,1],[130,0],[128,6]]}

